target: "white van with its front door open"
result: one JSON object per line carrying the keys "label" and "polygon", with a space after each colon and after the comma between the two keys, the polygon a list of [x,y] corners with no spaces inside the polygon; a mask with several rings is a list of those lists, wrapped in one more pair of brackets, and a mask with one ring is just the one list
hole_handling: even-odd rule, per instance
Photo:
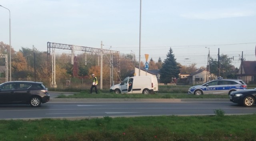
{"label": "white van with its front door open", "polygon": [[150,94],[158,91],[156,76],[126,77],[122,83],[112,85],[110,92],[114,93],[144,93]]}

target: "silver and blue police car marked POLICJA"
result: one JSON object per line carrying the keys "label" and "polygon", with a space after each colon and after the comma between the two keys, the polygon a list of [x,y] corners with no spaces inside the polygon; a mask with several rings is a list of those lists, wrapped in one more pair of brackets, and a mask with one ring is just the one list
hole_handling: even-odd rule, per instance
{"label": "silver and blue police car marked POLICJA", "polygon": [[247,85],[240,79],[217,79],[203,85],[196,85],[188,89],[188,94],[228,94],[239,89],[246,89]]}

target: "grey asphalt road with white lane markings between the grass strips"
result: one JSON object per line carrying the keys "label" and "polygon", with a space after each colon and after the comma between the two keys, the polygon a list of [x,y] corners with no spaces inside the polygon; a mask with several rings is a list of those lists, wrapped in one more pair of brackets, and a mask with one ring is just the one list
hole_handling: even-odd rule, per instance
{"label": "grey asphalt road with white lane markings between the grass strips", "polygon": [[[58,99],[60,100],[60,99]],[[83,119],[92,117],[134,117],[146,115],[214,115],[222,109],[225,114],[251,114],[254,107],[242,107],[228,99],[215,101],[184,101],[182,99],[70,99],[70,102],[54,101],[32,108],[30,105],[0,105],[0,119],[65,118]],[[72,102],[75,101],[75,102]]]}

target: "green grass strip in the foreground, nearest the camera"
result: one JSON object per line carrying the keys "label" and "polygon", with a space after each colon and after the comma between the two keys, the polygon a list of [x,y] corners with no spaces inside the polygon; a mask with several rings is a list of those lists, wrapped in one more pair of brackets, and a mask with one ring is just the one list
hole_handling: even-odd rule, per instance
{"label": "green grass strip in the foreground, nearest the camera", "polygon": [[[0,120],[1,141],[255,141],[253,115]],[[246,120],[245,120],[246,119]]]}

